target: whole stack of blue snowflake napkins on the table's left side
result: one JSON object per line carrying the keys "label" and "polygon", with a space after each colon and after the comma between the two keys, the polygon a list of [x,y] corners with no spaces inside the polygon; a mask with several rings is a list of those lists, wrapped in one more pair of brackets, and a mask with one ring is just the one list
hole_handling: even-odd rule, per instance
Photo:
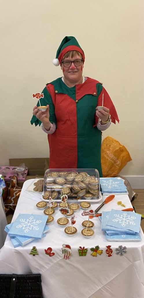
{"label": "whole stack of blue snowflake napkins on the table's left side", "polygon": [[5,231],[14,247],[24,246],[46,236],[50,229],[46,221],[45,215],[19,214],[13,223],[5,227]]}

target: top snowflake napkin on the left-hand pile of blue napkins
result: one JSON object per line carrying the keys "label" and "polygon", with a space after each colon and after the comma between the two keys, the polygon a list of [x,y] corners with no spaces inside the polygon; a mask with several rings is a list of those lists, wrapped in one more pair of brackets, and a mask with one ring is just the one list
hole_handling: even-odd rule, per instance
{"label": "top snowflake napkin on the left-hand pile of blue napkins", "polygon": [[37,214],[19,214],[9,229],[9,236],[21,236],[41,239],[47,216]]}

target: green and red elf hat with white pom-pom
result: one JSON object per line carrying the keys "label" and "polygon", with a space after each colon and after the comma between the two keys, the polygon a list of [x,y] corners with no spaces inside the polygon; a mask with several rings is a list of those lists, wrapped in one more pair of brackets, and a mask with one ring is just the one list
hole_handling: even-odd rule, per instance
{"label": "green and red elf hat with white pom-pom", "polygon": [[56,54],[56,59],[53,59],[52,63],[55,66],[59,66],[62,62],[63,56],[69,51],[78,51],[81,53],[83,58],[83,63],[85,60],[84,51],[81,49],[76,38],[74,36],[65,36],[62,40]]}

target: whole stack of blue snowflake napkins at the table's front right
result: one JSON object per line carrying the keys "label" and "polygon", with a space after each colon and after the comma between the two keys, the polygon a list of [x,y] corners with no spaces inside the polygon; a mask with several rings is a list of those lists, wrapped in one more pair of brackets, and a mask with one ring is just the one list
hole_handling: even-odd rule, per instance
{"label": "whole stack of blue snowflake napkins at the table's front right", "polygon": [[99,218],[108,241],[141,241],[140,214],[111,209],[103,211]]}

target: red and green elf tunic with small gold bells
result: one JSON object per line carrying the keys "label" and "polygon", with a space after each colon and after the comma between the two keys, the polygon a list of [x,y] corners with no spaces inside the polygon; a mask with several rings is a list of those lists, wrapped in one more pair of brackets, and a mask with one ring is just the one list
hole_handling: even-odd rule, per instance
{"label": "red and green elf tunic with small gold bells", "polygon": [[[102,177],[101,131],[96,126],[95,108],[102,105],[103,93],[103,105],[110,109],[111,121],[119,122],[107,91],[88,77],[72,88],[58,78],[42,92],[41,105],[49,104],[49,121],[57,127],[53,134],[48,134],[49,168],[96,168]],[[33,123],[41,125],[35,116],[31,119]]]}

